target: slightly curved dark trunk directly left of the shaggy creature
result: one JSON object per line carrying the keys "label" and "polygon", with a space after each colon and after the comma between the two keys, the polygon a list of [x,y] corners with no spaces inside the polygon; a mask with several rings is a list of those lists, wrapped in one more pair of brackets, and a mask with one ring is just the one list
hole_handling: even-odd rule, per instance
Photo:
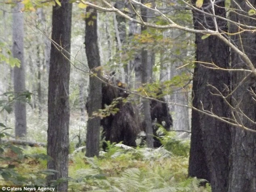
{"label": "slightly curved dark trunk directly left of the shaggy creature", "polygon": [[[98,77],[101,77],[101,59],[98,47],[97,35],[97,10],[87,7],[85,48],[89,69]],[[86,134],[86,156],[94,157],[99,155],[100,139],[100,117],[94,117],[93,112],[101,109],[101,81],[94,75],[90,75],[89,97],[88,97],[88,123]]]}

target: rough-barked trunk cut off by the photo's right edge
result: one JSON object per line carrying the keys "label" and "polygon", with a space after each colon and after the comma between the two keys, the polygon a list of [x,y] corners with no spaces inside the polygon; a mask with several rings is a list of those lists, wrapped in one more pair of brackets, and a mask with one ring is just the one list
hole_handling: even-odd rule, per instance
{"label": "rough-barked trunk cut off by the photo's right edge", "polygon": [[[255,0],[250,0],[249,2],[252,5],[256,4]],[[230,14],[232,21],[256,26],[255,19],[250,19],[247,15],[248,11],[252,9],[247,2],[243,0],[231,1],[231,7],[236,9],[236,12],[231,12]],[[243,11],[239,11],[240,8]],[[256,34],[252,31],[244,31],[242,33],[239,33],[239,31],[241,31],[239,27],[230,25],[229,32],[236,33],[236,35],[231,36],[233,42],[248,55],[254,66],[256,66]],[[235,52],[231,52],[231,67],[234,69],[248,69]],[[245,77],[247,78],[244,79]],[[256,77],[245,71],[232,72],[232,88],[234,90],[232,105],[235,108],[233,113],[238,123],[251,129],[256,129],[255,82]],[[256,134],[237,127],[232,127],[231,130],[232,149],[228,191],[256,191]]]}

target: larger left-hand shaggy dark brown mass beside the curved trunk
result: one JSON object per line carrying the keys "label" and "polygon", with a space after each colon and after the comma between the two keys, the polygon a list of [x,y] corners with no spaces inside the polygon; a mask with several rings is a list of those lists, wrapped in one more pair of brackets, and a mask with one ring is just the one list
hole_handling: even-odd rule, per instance
{"label": "larger left-hand shaggy dark brown mass beside the curved trunk", "polygon": [[[108,83],[112,83],[108,81]],[[118,86],[118,87],[116,87]],[[122,89],[120,89],[122,88]],[[106,105],[110,105],[116,98],[126,98],[128,93],[123,90],[125,85],[120,81],[116,81],[114,86],[103,84],[102,87],[102,109]],[[140,115],[136,107],[131,102],[123,102],[123,99],[115,101],[115,108],[118,112],[110,114],[101,120],[103,126],[103,137],[110,142],[123,142],[128,146],[136,146],[136,136],[141,131]],[[103,149],[106,146],[103,144]]]}

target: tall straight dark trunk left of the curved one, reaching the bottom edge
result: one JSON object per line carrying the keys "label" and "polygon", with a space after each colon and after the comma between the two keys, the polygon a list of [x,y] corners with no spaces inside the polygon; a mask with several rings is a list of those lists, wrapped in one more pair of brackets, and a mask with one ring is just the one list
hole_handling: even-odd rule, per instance
{"label": "tall straight dark trunk left of the curved one, reaching the bottom edge", "polygon": [[[49,183],[68,177],[70,62],[67,58],[70,58],[71,15],[72,4],[68,0],[62,0],[61,6],[52,9],[47,140],[47,154],[52,160],[47,167],[58,172],[48,175]],[[67,191],[67,185],[67,181],[61,182],[58,191]]]}

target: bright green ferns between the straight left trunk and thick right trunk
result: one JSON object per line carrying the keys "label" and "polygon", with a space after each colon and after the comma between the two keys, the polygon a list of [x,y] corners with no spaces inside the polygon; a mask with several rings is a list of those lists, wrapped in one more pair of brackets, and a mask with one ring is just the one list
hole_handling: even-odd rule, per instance
{"label": "bright green ferns between the straight left trunk and thick right trunk", "polygon": [[210,192],[201,180],[188,178],[188,156],[164,148],[112,145],[94,158],[71,155],[69,191],[94,192]]}

